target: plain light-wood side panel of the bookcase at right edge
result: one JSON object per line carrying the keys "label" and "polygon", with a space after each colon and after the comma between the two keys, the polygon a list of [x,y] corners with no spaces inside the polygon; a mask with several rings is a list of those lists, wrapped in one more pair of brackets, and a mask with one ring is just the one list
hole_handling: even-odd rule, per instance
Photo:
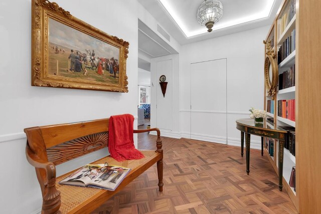
{"label": "plain light-wood side panel of the bookcase at right edge", "polygon": [[321,213],[321,1],[297,1],[296,197],[300,213]]}

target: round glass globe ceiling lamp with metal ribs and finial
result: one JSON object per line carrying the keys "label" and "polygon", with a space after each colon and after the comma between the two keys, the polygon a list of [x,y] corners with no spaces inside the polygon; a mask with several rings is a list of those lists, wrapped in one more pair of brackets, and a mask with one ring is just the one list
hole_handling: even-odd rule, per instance
{"label": "round glass globe ceiling lamp with metal ribs and finial", "polygon": [[212,31],[212,27],[223,16],[223,5],[219,0],[205,0],[197,11],[197,21]]}

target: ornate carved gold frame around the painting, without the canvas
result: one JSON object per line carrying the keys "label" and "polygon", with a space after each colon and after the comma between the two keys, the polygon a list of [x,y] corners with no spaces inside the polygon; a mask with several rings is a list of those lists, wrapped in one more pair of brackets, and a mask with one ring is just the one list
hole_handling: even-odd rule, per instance
{"label": "ornate carved gold frame around the painting, without the canvas", "polygon": [[[118,84],[49,75],[49,22],[52,18],[119,49]],[[73,17],[56,3],[32,0],[32,86],[128,92],[126,59],[129,43]]]}

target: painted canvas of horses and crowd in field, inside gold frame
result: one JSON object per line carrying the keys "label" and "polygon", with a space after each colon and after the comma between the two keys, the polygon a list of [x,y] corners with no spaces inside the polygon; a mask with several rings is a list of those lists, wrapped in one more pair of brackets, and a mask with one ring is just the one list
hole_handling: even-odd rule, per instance
{"label": "painted canvas of horses and crowd in field, inside gold frame", "polygon": [[120,48],[49,19],[48,74],[118,84]]}

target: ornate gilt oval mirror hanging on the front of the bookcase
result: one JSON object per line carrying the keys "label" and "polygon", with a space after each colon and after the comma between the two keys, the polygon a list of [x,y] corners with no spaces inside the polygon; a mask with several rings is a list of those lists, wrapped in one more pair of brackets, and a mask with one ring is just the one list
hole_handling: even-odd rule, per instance
{"label": "ornate gilt oval mirror hanging on the front of the bookcase", "polygon": [[[263,41],[263,43],[266,46],[266,57],[264,63],[266,96],[271,97],[271,99],[274,100],[274,95],[276,94],[276,88],[278,84],[278,66],[275,59],[276,57],[274,50],[271,47],[271,40],[268,40],[267,42]],[[272,79],[270,79],[270,72],[272,72]]]}

